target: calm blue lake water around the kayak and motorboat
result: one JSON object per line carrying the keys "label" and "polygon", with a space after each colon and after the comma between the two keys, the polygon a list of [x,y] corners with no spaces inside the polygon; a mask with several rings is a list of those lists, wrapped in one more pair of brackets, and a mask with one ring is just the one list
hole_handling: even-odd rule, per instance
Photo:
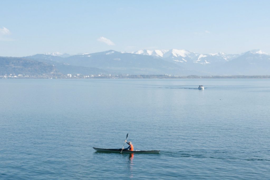
{"label": "calm blue lake water around the kayak and motorboat", "polygon": [[[0,179],[270,179],[269,79],[11,79],[0,92]],[[160,154],[92,148],[127,133]]]}

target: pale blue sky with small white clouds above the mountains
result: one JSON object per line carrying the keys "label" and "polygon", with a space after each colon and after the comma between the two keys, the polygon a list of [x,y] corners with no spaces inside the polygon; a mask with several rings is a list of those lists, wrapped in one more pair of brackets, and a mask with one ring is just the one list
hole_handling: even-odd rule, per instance
{"label": "pale blue sky with small white clouds above the mountains", "polygon": [[0,56],[185,49],[270,53],[270,1],[0,1]]}

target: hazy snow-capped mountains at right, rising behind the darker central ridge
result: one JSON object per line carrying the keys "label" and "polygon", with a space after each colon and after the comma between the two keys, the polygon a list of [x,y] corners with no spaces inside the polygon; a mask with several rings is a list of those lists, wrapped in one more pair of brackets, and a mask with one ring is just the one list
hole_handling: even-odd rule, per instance
{"label": "hazy snow-capped mountains at right, rising behind the darker central ridge", "polygon": [[[200,75],[265,75],[269,74],[270,55],[261,50],[250,50],[240,54],[199,54],[187,50],[139,50],[133,52],[162,57]],[[268,64],[268,67],[265,66]]]}

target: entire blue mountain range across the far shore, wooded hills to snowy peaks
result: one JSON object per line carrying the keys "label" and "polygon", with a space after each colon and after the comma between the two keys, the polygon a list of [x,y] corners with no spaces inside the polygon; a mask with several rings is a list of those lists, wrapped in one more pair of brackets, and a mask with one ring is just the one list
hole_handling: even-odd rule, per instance
{"label": "entire blue mountain range across the far shore, wooded hills to snowy peaks", "polygon": [[[43,70],[37,70],[39,66]],[[0,57],[0,74],[15,72],[15,68],[18,73],[31,73],[32,69],[35,73],[60,74],[269,75],[269,67],[270,55],[261,50],[240,54],[200,54],[177,49],[130,53],[108,50],[77,55],[55,52]]]}

